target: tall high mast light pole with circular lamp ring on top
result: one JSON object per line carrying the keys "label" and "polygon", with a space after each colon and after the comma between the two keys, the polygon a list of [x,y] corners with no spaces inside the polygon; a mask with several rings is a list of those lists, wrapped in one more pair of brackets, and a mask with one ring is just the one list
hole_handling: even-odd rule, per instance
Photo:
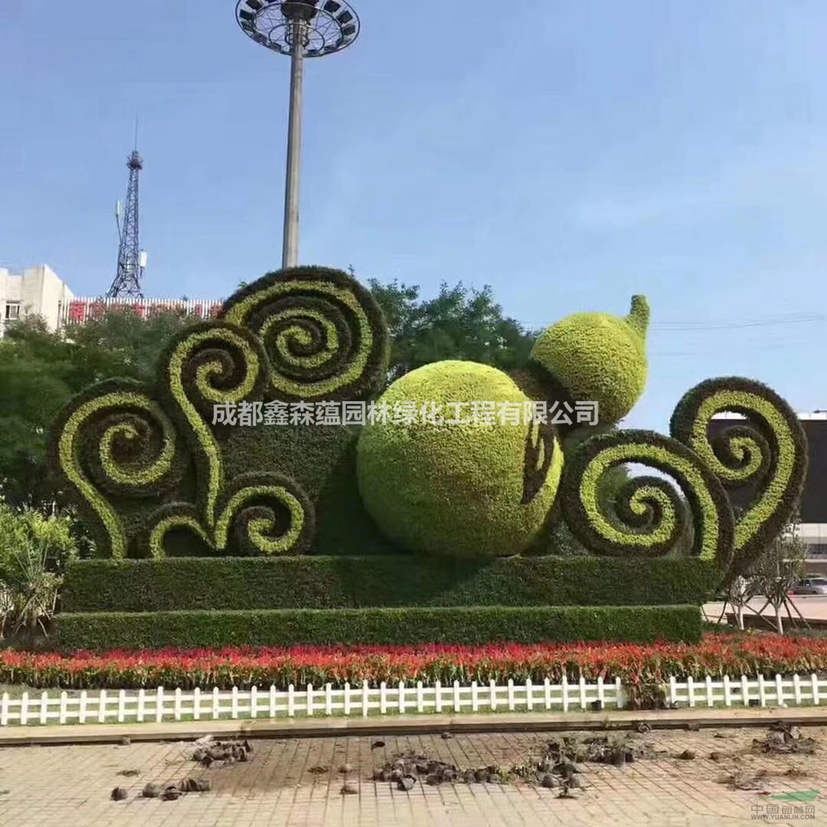
{"label": "tall high mast light pole with circular lamp ring on top", "polygon": [[299,264],[304,59],[332,55],[351,45],[359,36],[359,17],[345,0],[239,0],[236,19],[241,29],[256,43],[290,57],[290,109],[281,266],[295,267]]}

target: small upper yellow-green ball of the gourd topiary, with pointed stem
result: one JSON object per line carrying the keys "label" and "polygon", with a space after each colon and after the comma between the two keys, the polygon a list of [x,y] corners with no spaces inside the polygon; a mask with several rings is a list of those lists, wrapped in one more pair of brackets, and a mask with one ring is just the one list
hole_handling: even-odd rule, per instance
{"label": "small upper yellow-green ball of the gourd topiary, with pointed stem", "polygon": [[618,422],[646,387],[649,307],[634,296],[629,316],[575,313],[548,327],[531,351],[581,401],[597,402],[601,424]]}

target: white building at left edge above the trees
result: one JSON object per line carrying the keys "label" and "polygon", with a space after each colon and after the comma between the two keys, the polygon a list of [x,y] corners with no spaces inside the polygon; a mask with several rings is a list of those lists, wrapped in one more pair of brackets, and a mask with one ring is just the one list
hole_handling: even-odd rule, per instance
{"label": "white building at left edge above the trees", "polygon": [[7,323],[40,315],[58,330],[74,294],[54,270],[45,264],[12,273],[0,267],[0,336]]}

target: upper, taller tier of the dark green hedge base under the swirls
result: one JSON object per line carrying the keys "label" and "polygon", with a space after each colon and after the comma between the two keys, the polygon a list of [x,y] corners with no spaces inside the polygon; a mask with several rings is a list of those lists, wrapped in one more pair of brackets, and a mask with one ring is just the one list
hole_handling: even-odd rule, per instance
{"label": "upper, taller tier of the dark green hedge base under the swirls", "polygon": [[72,563],[66,573],[61,617],[70,612],[241,606],[701,605],[719,578],[712,562],[695,557],[510,557],[491,562],[402,555],[85,560]]}

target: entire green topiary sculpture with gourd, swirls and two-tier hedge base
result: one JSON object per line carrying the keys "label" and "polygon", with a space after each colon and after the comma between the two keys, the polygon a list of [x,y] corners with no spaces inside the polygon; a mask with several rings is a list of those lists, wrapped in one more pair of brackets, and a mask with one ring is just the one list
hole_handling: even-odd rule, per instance
{"label": "entire green topiary sculpture with gourd, swirls and two-tier hedge base", "polygon": [[[442,361],[385,389],[388,329],[366,289],[323,267],[265,275],[175,337],[154,385],[108,380],[55,423],[60,490],[112,558],[70,567],[59,638],[699,638],[698,603],[796,508],[806,441],[777,394],[729,377],[686,393],[669,436],[619,430],[564,457],[558,429],[575,423],[555,424],[555,411],[596,402],[607,425],[643,393],[648,318],[635,296],[626,318],[578,313],[549,327],[514,375]],[[366,423],[327,422],[354,406]],[[724,411],[743,419],[710,438]],[[605,475],[629,463],[671,481],[633,476],[602,496]],[[738,487],[752,500],[735,515]],[[555,521],[599,567],[552,557]],[[691,557],[669,558],[687,522]],[[595,589],[598,571],[607,582]]]}

